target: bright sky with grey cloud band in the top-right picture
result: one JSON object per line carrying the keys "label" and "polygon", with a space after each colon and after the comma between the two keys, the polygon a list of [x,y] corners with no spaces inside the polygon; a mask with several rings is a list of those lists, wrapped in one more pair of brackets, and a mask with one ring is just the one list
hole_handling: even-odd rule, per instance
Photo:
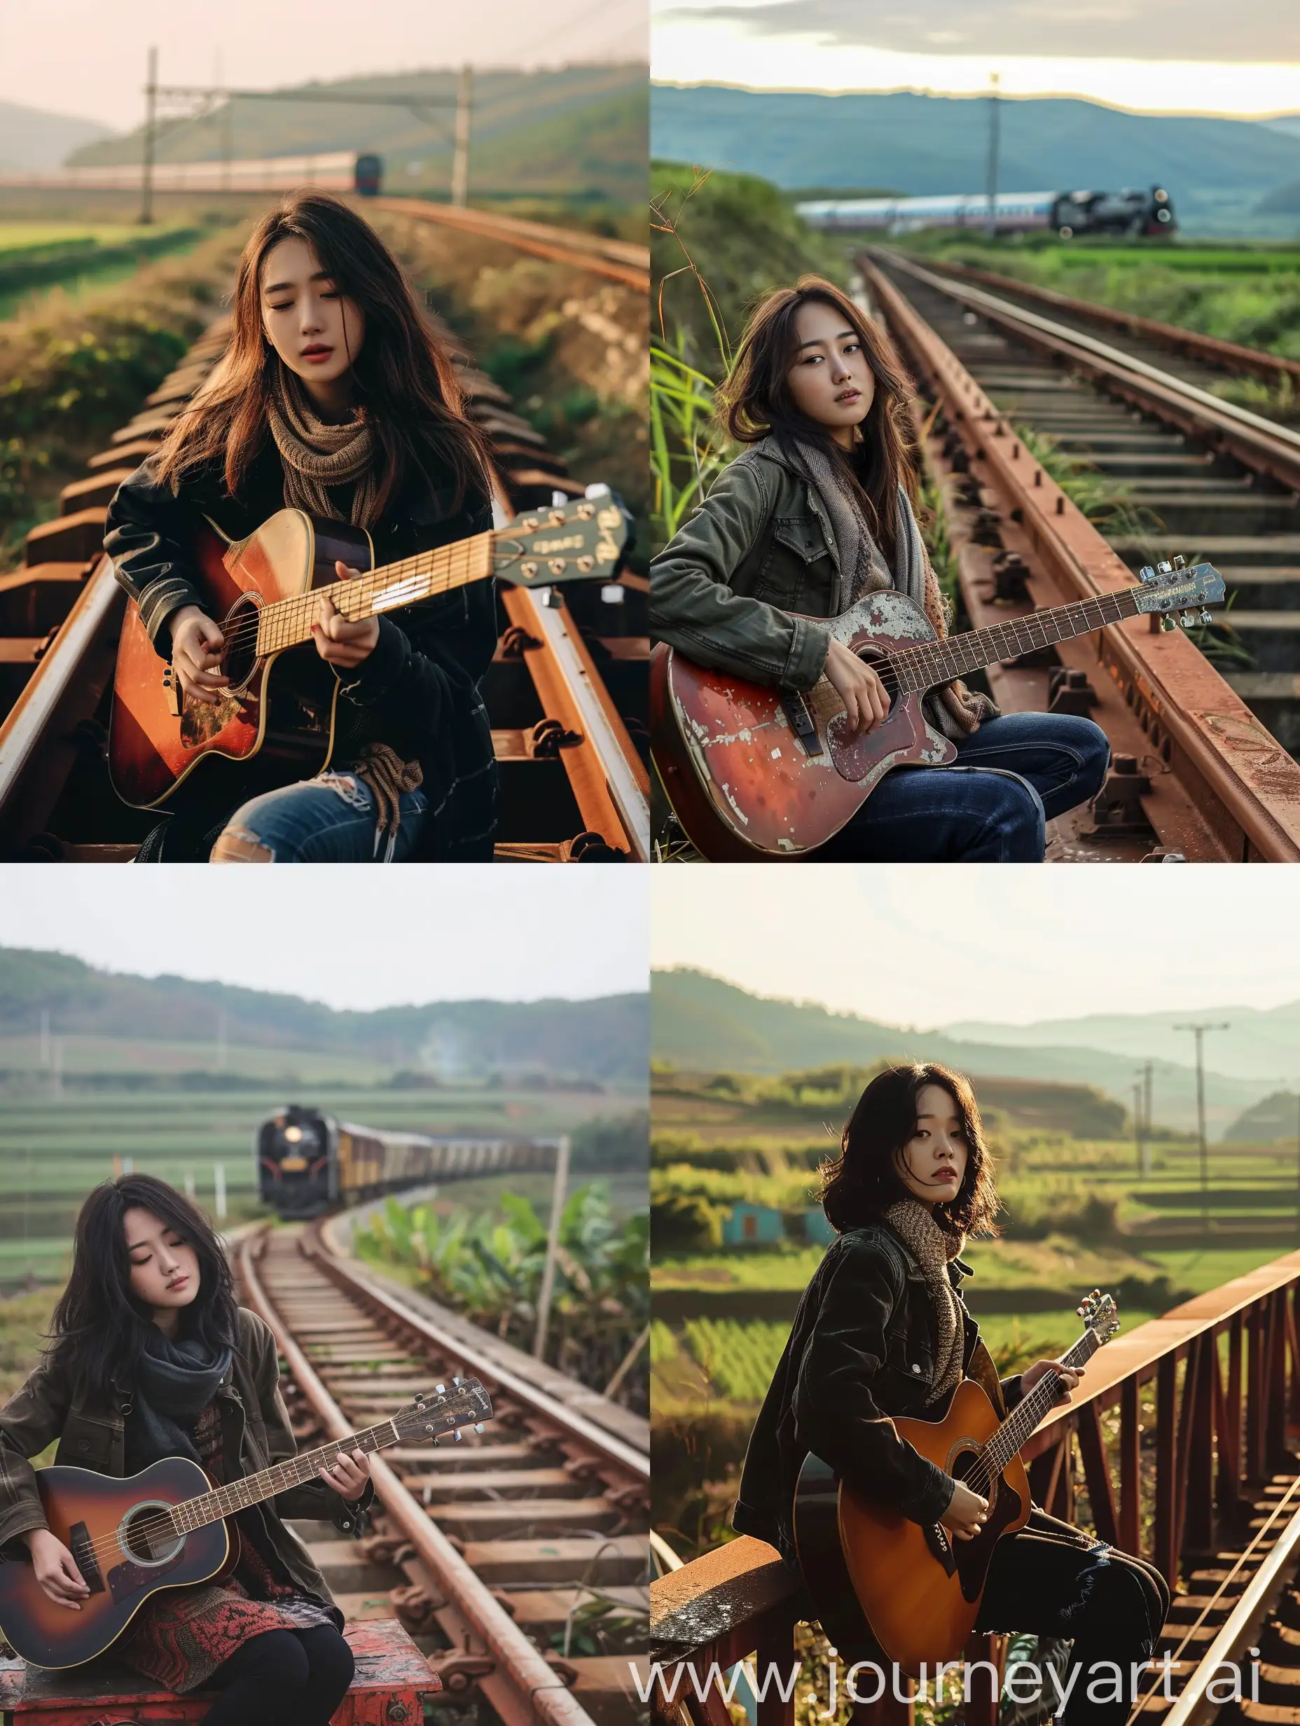
{"label": "bright sky with grey cloud band in the top-right picture", "polygon": [[1181,114],[1300,112],[1295,0],[651,0],[666,83],[1079,95]]}

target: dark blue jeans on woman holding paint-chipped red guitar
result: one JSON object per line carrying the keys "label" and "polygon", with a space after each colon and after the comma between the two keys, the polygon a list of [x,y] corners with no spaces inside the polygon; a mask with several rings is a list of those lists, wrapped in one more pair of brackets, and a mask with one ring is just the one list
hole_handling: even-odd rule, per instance
{"label": "dark blue jeans on woman holding paint-chipped red guitar", "polygon": [[1069,713],[1007,713],[951,766],[886,773],[817,863],[1041,863],[1044,823],[1101,789],[1107,734]]}

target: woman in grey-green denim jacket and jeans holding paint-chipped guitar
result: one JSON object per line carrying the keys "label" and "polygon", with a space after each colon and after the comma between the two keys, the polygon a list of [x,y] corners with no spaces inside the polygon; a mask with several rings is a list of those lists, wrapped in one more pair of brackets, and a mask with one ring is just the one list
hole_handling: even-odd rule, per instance
{"label": "woman in grey-green denim jacket and jeans holding paint-chipped guitar", "polygon": [[[754,311],[718,392],[748,445],[651,564],[651,627],[697,665],[806,690],[825,677],[849,725],[889,711],[877,673],[818,618],[893,587],[946,633],[912,502],[908,383],[886,337],[839,288],[805,276]],[[896,768],[818,861],[1041,863],[1043,825],[1093,797],[1108,744],[1091,720],[998,716],[946,683],[925,699],[951,768]]]}

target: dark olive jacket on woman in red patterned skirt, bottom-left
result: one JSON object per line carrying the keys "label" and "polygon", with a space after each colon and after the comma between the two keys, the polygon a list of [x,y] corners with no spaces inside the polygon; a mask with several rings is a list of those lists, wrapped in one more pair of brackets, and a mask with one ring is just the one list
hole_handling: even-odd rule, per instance
{"label": "dark olive jacket on woman in red patterned skirt, bottom-left", "polygon": [[[288,1410],[280,1395],[280,1362],[271,1327],[245,1307],[240,1307],[238,1320],[238,1346],[230,1372],[216,1393],[228,1481],[257,1474],[297,1455]],[[28,1457],[38,1457],[55,1439],[59,1439],[55,1464],[117,1477],[124,1474],[124,1410],[129,1407],[129,1386],[119,1386],[119,1395],[107,1402],[78,1393],[60,1370],[57,1355],[47,1355],[22,1389],[9,1398],[0,1408],[0,1548],[33,1528],[48,1526],[36,1488],[36,1471]],[[231,1458],[238,1460],[231,1464]],[[371,1481],[366,1481],[361,1498],[349,1503],[325,1481],[316,1479],[252,1509],[261,1514],[268,1545],[293,1586],[321,1605],[333,1607],[325,1578],[312,1564],[307,1548],[281,1519],[328,1521],[340,1534],[357,1538],[364,1533],[366,1510],[373,1500]],[[22,1557],[24,1548],[12,1546],[0,1555]],[[338,1626],[342,1628],[342,1614]]]}

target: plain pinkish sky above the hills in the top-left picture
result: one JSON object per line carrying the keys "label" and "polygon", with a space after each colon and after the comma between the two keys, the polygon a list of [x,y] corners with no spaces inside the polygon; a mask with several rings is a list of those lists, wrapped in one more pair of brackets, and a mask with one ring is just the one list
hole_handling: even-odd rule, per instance
{"label": "plain pinkish sky above the hills in the top-left picture", "polygon": [[647,0],[0,0],[0,100],[128,129],[162,83],[264,90],[420,67],[646,57]]}

